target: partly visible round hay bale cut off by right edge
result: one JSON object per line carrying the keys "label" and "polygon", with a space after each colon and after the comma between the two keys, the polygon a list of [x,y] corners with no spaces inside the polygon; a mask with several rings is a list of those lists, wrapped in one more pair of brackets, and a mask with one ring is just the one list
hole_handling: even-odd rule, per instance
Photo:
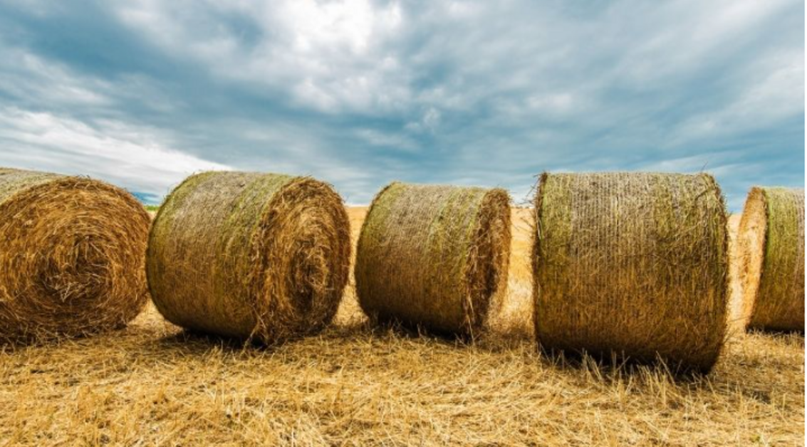
{"label": "partly visible round hay bale cut off by right edge", "polygon": [[751,188],[738,240],[743,320],[804,331],[805,190]]}

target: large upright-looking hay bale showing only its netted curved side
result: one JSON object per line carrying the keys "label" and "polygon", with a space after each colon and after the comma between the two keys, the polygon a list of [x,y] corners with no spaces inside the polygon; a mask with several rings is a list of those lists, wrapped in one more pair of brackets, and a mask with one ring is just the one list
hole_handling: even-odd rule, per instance
{"label": "large upright-looking hay bale showing only its netted curved side", "polygon": [[726,332],[729,257],[711,176],[544,173],[535,209],[544,349],[713,366]]}

